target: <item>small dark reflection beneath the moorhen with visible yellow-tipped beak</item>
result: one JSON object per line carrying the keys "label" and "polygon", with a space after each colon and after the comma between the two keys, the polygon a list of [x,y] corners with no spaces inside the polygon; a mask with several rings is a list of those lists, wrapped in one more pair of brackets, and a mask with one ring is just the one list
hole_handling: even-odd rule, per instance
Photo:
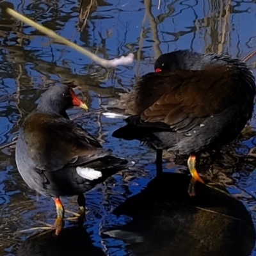
{"label": "small dark reflection beneath the moorhen with visible yellow-tipped beak", "polygon": [[60,236],[54,237],[53,230],[47,230],[28,237],[20,244],[17,256],[100,256],[106,255],[93,246],[89,234],[84,228],[64,228]]}

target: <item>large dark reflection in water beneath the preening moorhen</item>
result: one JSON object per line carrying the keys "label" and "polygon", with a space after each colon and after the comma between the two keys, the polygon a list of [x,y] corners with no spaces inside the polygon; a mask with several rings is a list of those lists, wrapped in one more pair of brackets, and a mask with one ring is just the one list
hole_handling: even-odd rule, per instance
{"label": "large dark reflection in water beneath the preening moorhen", "polygon": [[196,184],[189,177],[163,173],[114,213],[132,221],[105,234],[124,240],[134,255],[250,255],[255,230],[244,205],[225,191]]}

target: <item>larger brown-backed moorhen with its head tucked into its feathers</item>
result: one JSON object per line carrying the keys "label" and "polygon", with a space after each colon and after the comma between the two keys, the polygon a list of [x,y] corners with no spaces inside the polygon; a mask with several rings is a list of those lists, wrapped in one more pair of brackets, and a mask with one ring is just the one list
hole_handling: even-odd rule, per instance
{"label": "larger brown-backed moorhen with its head tucked into its feathers", "polygon": [[170,52],[156,60],[155,72],[143,76],[133,92],[121,96],[117,107],[130,116],[113,136],[155,148],[157,173],[163,149],[188,155],[191,181],[203,182],[195,154],[234,140],[252,117],[254,98],[255,79],[243,61],[226,54]]}

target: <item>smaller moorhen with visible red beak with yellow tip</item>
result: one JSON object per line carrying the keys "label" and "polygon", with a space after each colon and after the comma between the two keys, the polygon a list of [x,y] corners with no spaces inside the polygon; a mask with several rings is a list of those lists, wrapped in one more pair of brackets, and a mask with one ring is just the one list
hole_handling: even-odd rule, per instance
{"label": "smaller moorhen with visible red beak with yellow tip", "polygon": [[126,160],[109,156],[111,150],[102,148],[92,135],[68,119],[66,110],[72,106],[88,109],[72,88],[49,88],[20,127],[16,147],[17,168],[29,188],[54,198],[56,235],[63,227],[60,196],[78,195],[83,220],[83,193],[127,166]]}

